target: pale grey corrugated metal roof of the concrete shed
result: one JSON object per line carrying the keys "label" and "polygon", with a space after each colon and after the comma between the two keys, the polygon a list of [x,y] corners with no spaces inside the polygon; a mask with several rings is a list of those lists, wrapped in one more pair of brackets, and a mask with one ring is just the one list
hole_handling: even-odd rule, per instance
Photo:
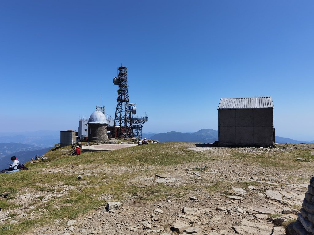
{"label": "pale grey corrugated metal roof of the concrete shed", "polygon": [[218,109],[273,108],[272,97],[222,98]]}

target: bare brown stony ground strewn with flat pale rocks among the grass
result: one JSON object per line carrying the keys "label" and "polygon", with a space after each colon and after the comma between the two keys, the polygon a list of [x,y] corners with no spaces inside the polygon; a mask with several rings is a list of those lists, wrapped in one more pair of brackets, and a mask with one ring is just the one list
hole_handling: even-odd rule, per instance
{"label": "bare brown stony ground strewn with flat pale rocks among the grass", "polygon": [[[302,148],[302,145],[284,149],[237,148],[236,151],[274,155],[278,151],[291,150],[289,148]],[[314,145],[306,145],[306,148],[312,148],[314,153]],[[295,220],[302,206],[308,181],[313,174],[309,167],[297,170],[261,167],[239,159],[228,159],[228,148],[191,146],[190,149],[205,151],[213,158],[176,166],[100,166],[101,172],[112,175],[140,172],[128,179],[130,185],[188,186],[187,194],[182,194],[178,189],[178,195],[156,197],[155,200],[140,200],[140,195],[130,195],[116,207],[110,205],[110,208],[106,208],[104,204],[87,214],[78,215],[75,220],[56,220],[25,234],[285,234],[284,226]],[[224,158],[220,159],[219,156]],[[295,164],[299,163],[296,161]],[[88,186],[84,184],[85,175],[100,174],[100,170],[88,169],[87,166],[75,166],[70,170],[67,167],[49,169],[49,166],[43,169],[43,173],[59,171],[82,175],[82,185],[57,185],[53,193],[31,190],[28,194],[20,194],[11,201],[23,205],[27,210],[20,207],[2,211],[1,223],[10,219],[9,214],[12,213],[19,216],[14,217],[11,223],[19,222],[19,217],[36,219],[45,210],[36,211],[32,207],[34,200],[45,202],[53,197],[67,197],[69,190],[79,193],[80,188]],[[110,194],[102,195],[100,199],[113,200]]]}

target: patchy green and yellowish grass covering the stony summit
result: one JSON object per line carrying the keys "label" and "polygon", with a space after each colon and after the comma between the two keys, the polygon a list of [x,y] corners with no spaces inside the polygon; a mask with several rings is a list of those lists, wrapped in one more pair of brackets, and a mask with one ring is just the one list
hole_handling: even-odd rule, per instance
{"label": "patchy green and yellowish grass covering the stony summit", "polygon": [[[29,205],[35,207],[32,211],[37,213],[44,209],[45,213],[41,216],[36,216],[34,220],[28,219],[28,217],[21,217],[19,218],[19,224],[8,224],[10,221],[6,220],[5,223],[0,225],[0,235],[21,234],[35,225],[51,223],[56,219],[63,220],[64,222],[68,219],[75,219],[78,215],[85,214],[100,206],[105,206],[106,201],[99,199],[103,195],[112,195],[112,200],[121,202],[130,196],[143,202],[166,199],[168,196],[184,197],[195,190],[203,190],[211,194],[220,193],[224,196],[229,195],[230,182],[225,181],[214,182],[197,179],[193,184],[180,186],[165,184],[133,185],[129,182],[130,179],[136,178],[139,174],[151,175],[153,172],[146,169],[145,167],[147,166],[158,166],[160,167],[160,172],[162,172],[162,166],[173,167],[184,163],[213,161],[211,152],[193,152],[188,149],[193,146],[195,145],[192,143],[159,143],[108,152],[88,152],[78,156],[68,156],[68,153],[72,151],[71,146],[51,149],[46,153],[48,159],[45,163],[30,164],[28,162],[26,166],[29,167],[29,170],[13,173],[14,177],[11,174],[0,175],[0,192],[8,192],[8,199],[15,199],[19,194],[31,192],[46,195],[64,191],[64,187],[58,185],[69,186],[71,190],[67,191],[67,195],[63,194],[62,197],[52,197],[47,202],[39,201],[45,196],[40,196],[37,200],[31,201]],[[296,149],[289,154],[280,152],[280,156],[239,153],[236,149],[232,148],[228,149],[228,151],[232,157],[226,157],[222,153],[217,158],[219,160],[243,160],[247,164],[269,167],[271,169],[278,167],[292,170],[299,169],[300,167],[310,167],[311,163],[295,162],[296,156],[310,160],[314,158],[314,155],[309,154],[308,149]],[[275,154],[279,155],[277,152]],[[102,172],[100,170],[95,173],[95,165],[99,169],[110,165],[116,168],[129,167],[130,169],[132,169],[131,166],[134,166],[138,169],[143,168],[144,170],[126,171],[120,174],[114,171]],[[50,173],[48,172],[49,170],[62,170],[62,172]],[[70,170],[75,171],[75,173]],[[92,172],[90,175],[83,174],[83,179],[78,180],[76,178],[78,172],[84,170],[92,170]],[[194,170],[201,169],[195,168]],[[80,186],[78,187],[78,185]],[[98,187],[94,187],[93,185],[98,185]],[[249,185],[258,185],[258,183],[233,182],[232,185],[243,188]],[[3,210],[17,207],[18,205],[8,202],[7,199],[0,200],[0,208]],[[12,217],[16,217],[15,212],[11,213]]]}

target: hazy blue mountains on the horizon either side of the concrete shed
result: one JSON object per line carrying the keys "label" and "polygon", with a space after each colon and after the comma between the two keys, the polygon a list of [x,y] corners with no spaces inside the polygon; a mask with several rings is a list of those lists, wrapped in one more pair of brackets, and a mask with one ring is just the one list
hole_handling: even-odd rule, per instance
{"label": "hazy blue mountains on the horizon either side of the concrete shed", "polygon": [[[143,138],[149,138],[158,140],[160,142],[200,142],[200,143],[214,143],[218,140],[218,131],[212,129],[201,129],[194,133],[181,133],[176,131],[170,131],[167,133],[143,133]],[[276,136],[276,143],[289,143],[298,144],[306,143],[311,144],[313,141],[301,141],[290,138],[283,138]]]}

